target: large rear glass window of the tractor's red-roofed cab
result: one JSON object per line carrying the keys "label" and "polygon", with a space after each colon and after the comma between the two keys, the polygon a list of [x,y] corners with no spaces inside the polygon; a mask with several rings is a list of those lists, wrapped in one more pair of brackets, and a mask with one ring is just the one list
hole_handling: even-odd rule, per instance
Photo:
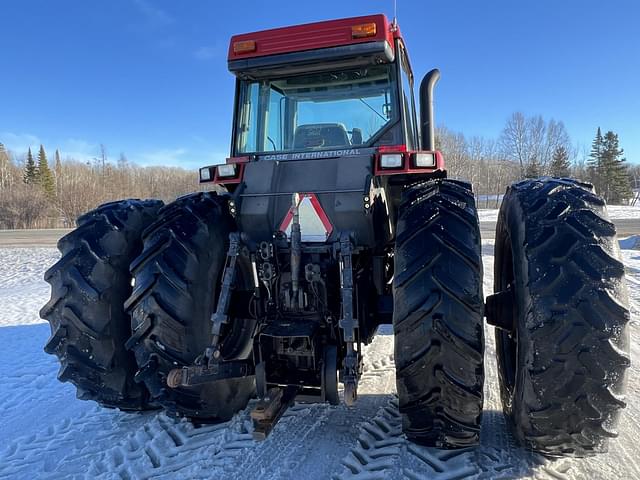
{"label": "large rear glass window of the tractor's red-roofed cab", "polygon": [[392,65],[243,81],[236,152],[369,144],[397,118]]}

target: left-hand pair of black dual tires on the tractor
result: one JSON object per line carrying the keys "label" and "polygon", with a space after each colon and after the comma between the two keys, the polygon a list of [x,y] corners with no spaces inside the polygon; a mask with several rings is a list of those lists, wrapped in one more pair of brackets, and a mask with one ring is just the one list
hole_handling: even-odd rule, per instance
{"label": "left-hand pair of black dual tires on the tractor", "polygon": [[[75,384],[81,399],[227,420],[254,394],[253,377],[170,389],[166,376],[209,345],[233,221],[215,193],[161,207],[153,200],[102,205],[60,240],[62,258],[45,274],[52,288],[40,312],[52,331],[45,351],[58,356],[58,378]],[[234,321],[223,354],[246,344],[247,323]]]}

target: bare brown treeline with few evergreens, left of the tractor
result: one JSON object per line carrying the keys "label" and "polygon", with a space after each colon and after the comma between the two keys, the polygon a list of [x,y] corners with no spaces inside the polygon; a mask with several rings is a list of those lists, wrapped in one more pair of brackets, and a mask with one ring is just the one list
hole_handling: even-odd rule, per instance
{"label": "bare brown treeline with few evergreens, left of the tractor", "polygon": [[71,227],[98,205],[123,198],[169,202],[199,187],[197,172],[175,167],[140,167],[124,155],[110,162],[102,149],[93,162],[61,160],[50,166],[43,146],[23,160],[0,143],[0,229]]}

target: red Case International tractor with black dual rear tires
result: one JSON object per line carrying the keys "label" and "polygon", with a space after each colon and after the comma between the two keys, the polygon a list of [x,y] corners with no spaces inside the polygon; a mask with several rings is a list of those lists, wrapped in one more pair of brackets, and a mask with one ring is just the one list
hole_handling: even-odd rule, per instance
{"label": "red Case International tractor with black dual rear tires", "polygon": [[[591,185],[509,188],[485,305],[470,184],[434,147],[433,89],[384,15],[231,39],[230,157],[218,193],[109,203],[46,273],[45,350],[78,397],[228,420],[256,437],[294,400],[357,399],[362,346],[393,324],[406,436],[479,441],[484,324],[525,445],[585,455],[613,435],[629,365],[624,268]],[[220,193],[222,192],[222,193]],[[339,393],[339,384],[343,393]]]}

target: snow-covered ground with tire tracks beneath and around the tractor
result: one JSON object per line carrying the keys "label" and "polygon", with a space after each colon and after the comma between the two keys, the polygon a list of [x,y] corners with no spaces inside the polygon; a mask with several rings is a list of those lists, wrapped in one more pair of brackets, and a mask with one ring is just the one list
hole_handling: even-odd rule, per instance
{"label": "snow-covered ground with tire tracks beneath and around the tractor", "polygon": [[[638,209],[640,211],[640,209]],[[637,242],[628,242],[634,245]],[[493,242],[483,244],[485,293]],[[640,252],[623,250],[632,299],[632,357],[640,354]],[[56,380],[42,346],[38,309],[53,248],[0,249],[0,479],[630,479],[640,478],[640,368],[629,374],[628,408],[607,456],[550,461],[516,446],[500,410],[493,332],[487,327],[481,446],[439,451],[401,434],[394,396],[393,336],[367,347],[353,408],[296,405],[270,437],[251,439],[249,408],[228,423],[194,428],[162,413],[124,414],[75,399]]]}

